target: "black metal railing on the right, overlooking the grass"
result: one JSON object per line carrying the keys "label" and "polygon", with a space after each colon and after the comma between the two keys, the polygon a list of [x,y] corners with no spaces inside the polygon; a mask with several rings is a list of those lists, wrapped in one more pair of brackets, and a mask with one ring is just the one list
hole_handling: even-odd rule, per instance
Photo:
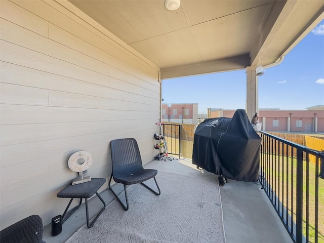
{"label": "black metal railing on the right, overlooking the grass", "polygon": [[324,242],[324,153],[265,132],[260,136],[259,181],[291,238]]}

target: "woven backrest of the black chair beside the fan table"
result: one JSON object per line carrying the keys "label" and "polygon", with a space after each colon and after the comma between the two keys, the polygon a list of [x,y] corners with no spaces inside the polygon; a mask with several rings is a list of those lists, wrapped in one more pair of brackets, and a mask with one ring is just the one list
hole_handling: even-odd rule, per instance
{"label": "woven backrest of the black chair beside the fan table", "polygon": [[110,148],[113,175],[143,168],[140,150],[134,138],[112,140]]}

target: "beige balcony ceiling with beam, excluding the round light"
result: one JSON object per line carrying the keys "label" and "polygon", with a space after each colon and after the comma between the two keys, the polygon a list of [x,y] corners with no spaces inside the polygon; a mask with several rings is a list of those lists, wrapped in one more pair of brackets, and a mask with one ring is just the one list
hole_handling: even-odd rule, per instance
{"label": "beige balcony ceiling with beam, excluding the round light", "polygon": [[69,0],[172,78],[271,65],[323,19],[324,1]]}

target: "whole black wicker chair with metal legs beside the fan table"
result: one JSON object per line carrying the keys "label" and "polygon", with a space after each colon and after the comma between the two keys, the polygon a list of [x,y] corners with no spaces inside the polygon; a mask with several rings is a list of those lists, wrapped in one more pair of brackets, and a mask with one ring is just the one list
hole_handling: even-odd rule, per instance
{"label": "whole black wicker chair with metal legs beside the fan table", "polygon": [[[111,161],[112,161],[112,173],[109,180],[109,189],[114,194],[120,205],[127,211],[129,208],[127,198],[127,186],[132,184],[141,183],[147,189],[154,192],[156,195],[161,194],[160,188],[157,185],[155,176],[157,170],[144,169],[142,165],[142,158],[137,142],[134,138],[115,139],[110,142],[111,148]],[[112,190],[110,186],[111,179],[116,183],[124,184],[124,191],[126,197],[126,206],[118,198],[117,194]],[[143,183],[153,178],[158,189],[158,192],[148,187]]]}

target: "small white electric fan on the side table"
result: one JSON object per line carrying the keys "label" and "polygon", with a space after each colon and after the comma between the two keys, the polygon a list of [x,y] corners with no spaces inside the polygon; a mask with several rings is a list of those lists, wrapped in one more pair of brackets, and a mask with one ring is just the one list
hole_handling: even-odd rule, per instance
{"label": "small white electric fan on the side table", "polygon": [[92,156],[87,151],[77,151],[70,156],[68,160],[70,170],[79,173],[79,177],[73,180],[72,185],[91,181],[90,176],[83,177],[83,172],[88,170],[91,164]]}

